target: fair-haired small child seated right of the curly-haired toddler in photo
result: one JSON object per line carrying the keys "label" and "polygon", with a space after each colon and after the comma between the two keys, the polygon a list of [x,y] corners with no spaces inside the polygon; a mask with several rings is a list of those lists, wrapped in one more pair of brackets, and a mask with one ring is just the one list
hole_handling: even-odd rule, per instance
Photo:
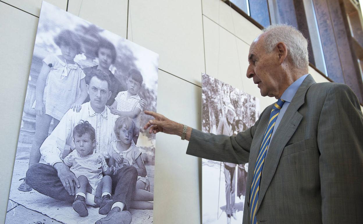
{"label": "fair-haired small child seated right of the curly-haired toddler in photo", "polygon": [[131,144],[132,138],[139,129],[135,127],[134,121],[129,117],[119,117],[115,122],[115,134],[117,140],[113,140],[108,148],[109,164],[117,169],[123,166],[134,166],[138,172],[136,189],[131,207],[135,209],[152,209],[154,194],[147,191],[150,182],[147,178],[144,161],[141,152],[135,144]]}

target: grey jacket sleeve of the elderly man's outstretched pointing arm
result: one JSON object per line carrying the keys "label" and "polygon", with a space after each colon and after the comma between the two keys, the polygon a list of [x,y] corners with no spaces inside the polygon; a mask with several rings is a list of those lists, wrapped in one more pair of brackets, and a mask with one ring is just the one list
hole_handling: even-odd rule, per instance
{"label": "grey jacket sleeve of the elderly man's outstretched pointing arm", "polygon": [[250,147],[260,119],[249,129],[231,137],[192,129],[187,154],[221,162],[248,163]]}

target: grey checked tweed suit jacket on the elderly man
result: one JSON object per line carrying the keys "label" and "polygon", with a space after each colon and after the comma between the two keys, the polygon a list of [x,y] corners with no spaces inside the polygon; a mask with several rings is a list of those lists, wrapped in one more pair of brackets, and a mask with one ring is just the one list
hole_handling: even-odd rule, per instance
{"label": "grey checked tweed suit jacket on the elderly man", "polygon": [[[192,130],[187,154],[249,163],[243,223],[250,223],[250,189],[273,105],[236,137]],[[307,76],[266,154],[258,223],[363,222],[363,115],[356,95],[338,83]]]}

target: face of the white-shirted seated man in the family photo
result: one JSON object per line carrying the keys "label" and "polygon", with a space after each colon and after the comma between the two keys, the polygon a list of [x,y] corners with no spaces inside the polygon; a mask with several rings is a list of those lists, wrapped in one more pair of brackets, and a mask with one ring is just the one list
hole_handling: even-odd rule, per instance
{"label": "face of the white-shirted seated man in the family photo", "polygon": [[90,95],[91,106],[94,107],[94,109],[104,108],[107,100],[111,97],[107,81],[100,80],[96,76],[91,78],[87,92]]}

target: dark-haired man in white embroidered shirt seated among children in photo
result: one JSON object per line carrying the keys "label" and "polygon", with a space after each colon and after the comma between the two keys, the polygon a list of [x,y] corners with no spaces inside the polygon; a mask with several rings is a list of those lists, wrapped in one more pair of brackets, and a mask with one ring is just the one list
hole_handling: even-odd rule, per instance
{"label": "dark-haired man in white embroidered shirt seated among children in photo", "polygon": [[[46,164],[33,165],[26,173],[26,183],[34,190],[70,203],[74,201],[75,188],[80,185],[76,176],[62,162],[62,154],[67,154],[66,145],[74,149],[74,127],[80,120],[88,121],[95,129],[95,151],[102,153],[105,158],[108,158],[109,143],[115,139],[113,127],[117,117],[105,106],[111,96],[110,78],[101,70],[93,70],[91,73],[92,77],[87,85],[90,102],[83,103],[78,113],[72,109],[67,111],[40,147],[40,153]],[[123,167],[112,179],[114,203],[112,207],[107,208],[108,211],[112,208],[107,217],[97,222],[100,224],[121,223],[122,219],[130,220],[131,218],[130,213],[123,210],[129,209],[130,206],[137,180],[136,168]],[[87,204],[94,204],[94,198],[90,200],[91,196],[87,194]]]}

